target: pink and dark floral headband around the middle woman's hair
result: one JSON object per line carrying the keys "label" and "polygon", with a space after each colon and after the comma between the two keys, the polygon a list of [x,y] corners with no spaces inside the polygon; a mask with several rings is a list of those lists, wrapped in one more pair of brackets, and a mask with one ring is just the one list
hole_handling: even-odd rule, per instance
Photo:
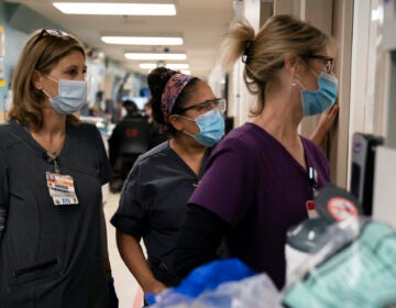
{"label": "pink and dark floral headband around the middle woman's hair", "polygon": [[162,98],[161,98],[161,109],[164,114],[164,122],[169,123],[169,116],[172,109],[175,106],[175,101],[183,91],[184,87],[194,77],[189,75],[184,75],[182,73],[176,73],[172,75],[169,80],[166,82]]}

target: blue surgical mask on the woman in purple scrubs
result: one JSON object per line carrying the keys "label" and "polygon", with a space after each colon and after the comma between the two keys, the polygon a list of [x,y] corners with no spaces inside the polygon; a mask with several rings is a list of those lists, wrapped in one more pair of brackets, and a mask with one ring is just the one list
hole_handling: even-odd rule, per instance
{"label": "blue surgical mask on the woman in purple scrubs", "polygon": [[[299,85],[301,82],[298,80]],[[324,72],[318,76],[319,89],[309,91],[301,86],[301,103],[304,116],[322,113],[331,108],[337,98],[338,80],[337,77]]]}

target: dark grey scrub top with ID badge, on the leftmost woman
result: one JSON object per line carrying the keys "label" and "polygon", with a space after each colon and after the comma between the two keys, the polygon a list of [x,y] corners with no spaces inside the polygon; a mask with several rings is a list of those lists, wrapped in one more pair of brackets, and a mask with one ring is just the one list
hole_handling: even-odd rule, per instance
{"label": "dark grey scrub top with ID badge, on the leftmost woman", "polygon": [[107,307],[101,186],[111,170],[95,125],[67,125],[57,161],[78,205],[55,206],[46,172],[54,163],[16,122],[0,125],[0,307]]}

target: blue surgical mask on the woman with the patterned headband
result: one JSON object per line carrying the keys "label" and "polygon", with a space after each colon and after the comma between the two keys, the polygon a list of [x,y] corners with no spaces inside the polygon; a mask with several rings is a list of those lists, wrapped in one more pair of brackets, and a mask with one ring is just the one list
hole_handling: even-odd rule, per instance
{"label": "blue surgical mask on the woman with the patterned headband", "polygon": [[186,134],[194,138],[197,142],[205,146],[213,146],[217,144],[221,138],[224,135],[224,118],[219,109],[215,108],[195,119],[185,118],[187,120],[193,120],[197,123],[199,128],[198,134],[190,134],[185,131]]}

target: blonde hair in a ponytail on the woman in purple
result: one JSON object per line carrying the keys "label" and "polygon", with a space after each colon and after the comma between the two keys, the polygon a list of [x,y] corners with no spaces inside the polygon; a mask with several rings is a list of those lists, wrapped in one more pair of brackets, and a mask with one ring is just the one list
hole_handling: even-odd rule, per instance
{"label": "blonde hair in a ponytail on the woman in purple", "polygon": [[307,22],[290,15],[274,15],[255,35],[246,20],[234,21],[222,42],[222,63],[226,69],[243,55],[243,78],[249,91],[258,96],[252,116],[264,109],[268,85],[284,66],[285,55],[312,55],[330,45],[330,37]]}

